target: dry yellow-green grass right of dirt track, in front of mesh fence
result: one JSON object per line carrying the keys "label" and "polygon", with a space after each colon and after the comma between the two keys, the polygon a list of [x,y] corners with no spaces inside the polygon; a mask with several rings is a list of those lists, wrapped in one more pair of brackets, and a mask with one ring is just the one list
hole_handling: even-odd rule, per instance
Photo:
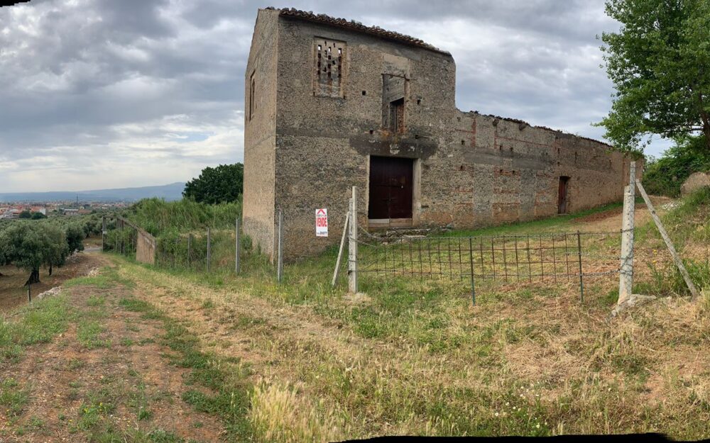
{"label": "dry yellow-green grass right of dirt track, in front of mesh fence", "polygon": [[[249,366],[258,441],[710,435],[710,358],[701,352],[710,345],[710,303],[669,300],[610,325],[611,299],[580,306],[574,287],[551,296],[511,286],[476,308],[439,293],[430,305],[403,301],[396,318],[387,309],[397,305],[373,306],[366,317],[340,296],[294,305],[116,262],[122,278],[136,281],[136,296],[181,319],[206,352]],[[382,324],[391,319],[400,324]],[[372,338],[364,324],[390,329]]]}

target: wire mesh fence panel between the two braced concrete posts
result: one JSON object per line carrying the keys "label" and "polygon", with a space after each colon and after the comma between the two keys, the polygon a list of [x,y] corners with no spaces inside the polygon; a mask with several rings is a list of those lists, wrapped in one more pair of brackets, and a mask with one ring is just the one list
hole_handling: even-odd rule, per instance
{"label": "wire mesh fence panel between the two braced concrete posts", "polygon": [[378,237],[360,229],[358,269],[362,276],[476,282],[540,283],[609,278],[618,274],[618,232],[559,232],[458,237]]}

